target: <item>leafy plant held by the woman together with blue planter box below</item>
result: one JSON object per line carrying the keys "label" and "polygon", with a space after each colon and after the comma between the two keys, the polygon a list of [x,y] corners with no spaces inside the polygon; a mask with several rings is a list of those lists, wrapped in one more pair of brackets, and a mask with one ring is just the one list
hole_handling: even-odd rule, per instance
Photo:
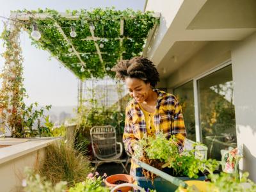
{"label": "leafy plant held by the woman together with blue planter box below", "polygon": [[[143,140],[138,141],[134,155],[143,163],[147,163],[173,177],[178,177],[178,179],[205,180],[205,176],[202,174],[205,164],[211,164],[213,167],[217,164],[216,161],[195,157],[196,149],[184,150],[180,154],[176,143],[175,138],[167,140],[163,133],[157,134],[156,137],[146,136]],[[201,144],[196,143],[196,145]],[[175,191],[177,189],[177,186],[172,183],[141,168],[136,169],[136,180],[140,186],[146,189],[155,188],[160,191]]]}

